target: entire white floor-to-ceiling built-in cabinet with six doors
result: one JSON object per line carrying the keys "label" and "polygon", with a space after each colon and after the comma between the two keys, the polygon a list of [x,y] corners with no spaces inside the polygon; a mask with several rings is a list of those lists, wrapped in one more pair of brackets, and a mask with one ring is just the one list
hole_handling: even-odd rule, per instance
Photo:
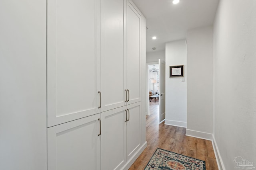
{"label": "entire white floor-to-ceiling built-in cabinet with six doors", "polygon": [[146,147],[141,29],[129,0],[48,0],[48,170],[128,169]]}

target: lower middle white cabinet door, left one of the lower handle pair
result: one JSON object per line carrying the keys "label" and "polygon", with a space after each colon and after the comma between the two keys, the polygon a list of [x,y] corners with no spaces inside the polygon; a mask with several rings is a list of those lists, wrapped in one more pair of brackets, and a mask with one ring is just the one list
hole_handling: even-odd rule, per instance
{"label": "lower middle white cabinet door, left one of the lower handle pair", "polygon": [[104,170],[119,170],[126,163],[125,108],[102,112],[101,166]]}

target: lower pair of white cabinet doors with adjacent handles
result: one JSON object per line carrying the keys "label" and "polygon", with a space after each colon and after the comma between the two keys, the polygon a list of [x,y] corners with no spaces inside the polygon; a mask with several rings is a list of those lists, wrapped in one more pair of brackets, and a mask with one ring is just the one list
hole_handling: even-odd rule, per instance
{"label": "lower pair of white cabinet doors with adjacent handles", "polygon": [[141,146],[140,102],[103,112],[101,165],[121,169]]}

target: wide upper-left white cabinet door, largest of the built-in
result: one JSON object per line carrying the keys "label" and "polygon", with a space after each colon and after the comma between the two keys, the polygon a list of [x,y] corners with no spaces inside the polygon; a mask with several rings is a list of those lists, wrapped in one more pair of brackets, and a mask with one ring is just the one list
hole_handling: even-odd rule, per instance
{"label": "wide upper-left white cabinet door, largest of the built-in", "polygon": [[48,0],[48,127],[100,113],[98,91],[100,0]]}

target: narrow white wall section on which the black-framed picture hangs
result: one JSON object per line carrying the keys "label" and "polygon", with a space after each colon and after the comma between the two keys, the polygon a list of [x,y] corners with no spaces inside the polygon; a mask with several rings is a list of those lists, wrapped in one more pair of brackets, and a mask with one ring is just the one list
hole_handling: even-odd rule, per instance
{"label": "narrow white wall section on which the black-framed picture hangs", "polygon": [[[186,127],[187,121],[187,47],[186,40],[166,43],[165,124]],[[184,65],[184,79],[170,78],[170,66]]]}

